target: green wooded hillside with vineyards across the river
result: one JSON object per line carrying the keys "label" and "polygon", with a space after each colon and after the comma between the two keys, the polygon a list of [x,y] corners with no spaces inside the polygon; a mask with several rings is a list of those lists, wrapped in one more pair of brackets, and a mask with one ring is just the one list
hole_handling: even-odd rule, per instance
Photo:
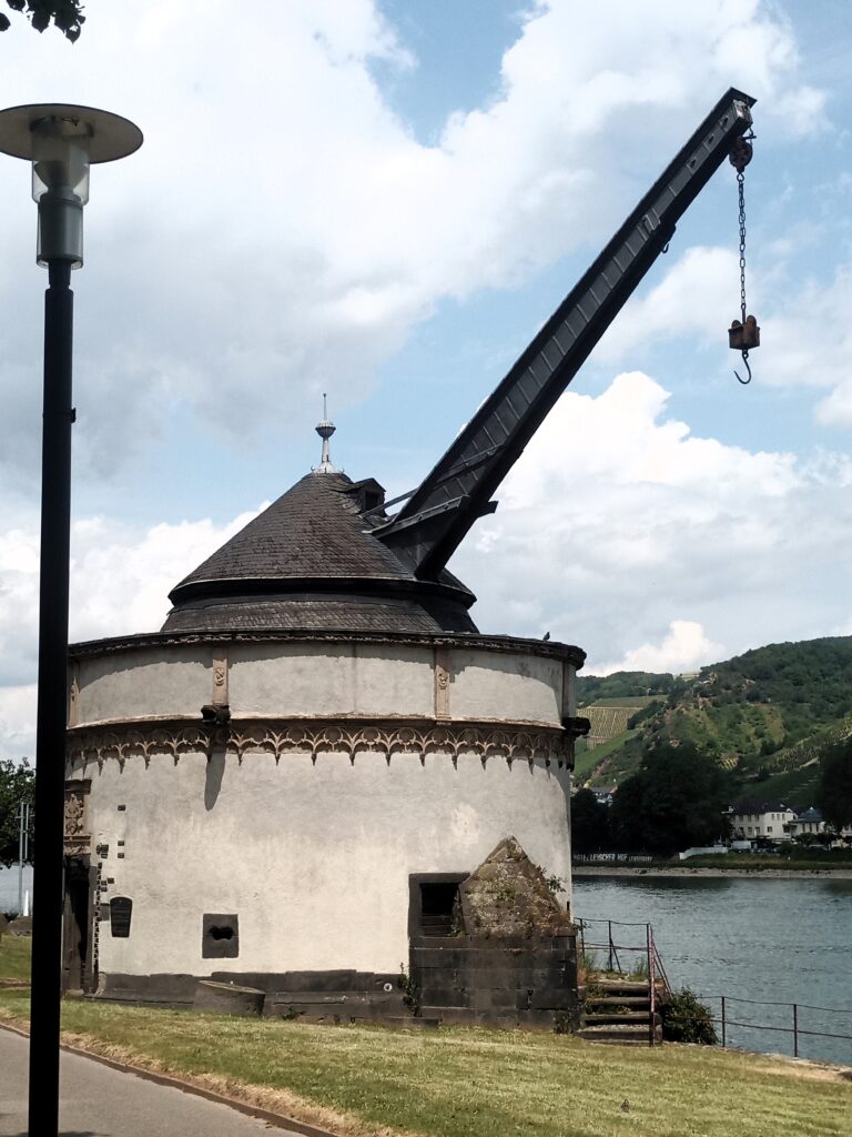
{"label": "green wooded hillside with vineyards across the river", "polygon": [[[822,749],[852,728],[852,637],[771,644],[688,679],[578,677],[577,689],[586,714],[632,699],[636,708],[619,733],[599,733],[600,745],[579,748],[578,782],[618,785],[646,749],[686,742],[732,771],[737,799],[758,795],[807,806]],[[590,717],[607,721],[599,712]],[[623,717],[613,721],[621,725]]]}

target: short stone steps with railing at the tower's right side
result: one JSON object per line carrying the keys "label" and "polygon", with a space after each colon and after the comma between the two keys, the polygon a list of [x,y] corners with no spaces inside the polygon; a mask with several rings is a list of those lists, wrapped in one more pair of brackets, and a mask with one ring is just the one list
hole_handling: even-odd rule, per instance
{"label": "short stone steps with railing at the tower's right side", "polygon": [[657,1046],[662,1043],[660,1004],[666,998],[663,985],[657,984],[653,1031],[651,989],[648,980],[593,979],[582,987],[578,1035],[591,1043],[623,1046]]}

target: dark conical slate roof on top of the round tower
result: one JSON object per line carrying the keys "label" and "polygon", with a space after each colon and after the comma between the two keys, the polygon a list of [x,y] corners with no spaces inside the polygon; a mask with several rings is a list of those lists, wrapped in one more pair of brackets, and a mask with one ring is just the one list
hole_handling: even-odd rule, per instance
{"label": "dark conical slate roof on top of the round tower", "polygon": [[476,631],[450,573],[419,581],[373,533],[362,483],[315,471],[169,594],[164,631]]}

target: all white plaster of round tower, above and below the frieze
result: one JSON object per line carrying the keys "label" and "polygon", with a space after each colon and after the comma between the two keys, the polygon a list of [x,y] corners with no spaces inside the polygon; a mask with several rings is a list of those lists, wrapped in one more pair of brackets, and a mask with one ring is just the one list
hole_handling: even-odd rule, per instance
{"label": "all white plaster of round tower, above and below the frieze", "polygon": [[[226,682],[215,687],[224,666]],[[200,722],[227,702],[232,727],[304,719],[559,728],[573,679],[562,658],[431,644],[166,644],[73,664],[76,729]],[[445,678],[446,682],[440,682]],[[133,899],[128,939],[100,928],[101,974],[357,969],[408,957],[409,875],[468,873],[515,836],[570,881],[567,769],[501,755],[358,749],[242,761],[214,747],[148,763],[130,748],[75,763],[91,779],[92,848],[108,846],[101,896]],[[119,808],[124,806],[124,808]],[[119,847],[118,841],[124,844]],[[118,857],[118,852],[124,854]],[[203,960],[204,913],[236,914],[240,954]]]}

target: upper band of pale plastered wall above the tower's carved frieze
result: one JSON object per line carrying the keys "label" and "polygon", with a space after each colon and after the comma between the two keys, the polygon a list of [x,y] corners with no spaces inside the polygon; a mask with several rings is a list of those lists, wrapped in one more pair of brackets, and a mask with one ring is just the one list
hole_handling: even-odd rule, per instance
{"label": "upper band of pale plastered wall above the tower's carved frieze", "polygon": [[74,664],[72,723],[197,717],[215,699],[214,659],[227,666],[232,713],[244,716],[431,717],[436,659],[449,672],[452,719],[558,727],[561,659],[520,652],[346,642],[235,642],[128,649]]}

